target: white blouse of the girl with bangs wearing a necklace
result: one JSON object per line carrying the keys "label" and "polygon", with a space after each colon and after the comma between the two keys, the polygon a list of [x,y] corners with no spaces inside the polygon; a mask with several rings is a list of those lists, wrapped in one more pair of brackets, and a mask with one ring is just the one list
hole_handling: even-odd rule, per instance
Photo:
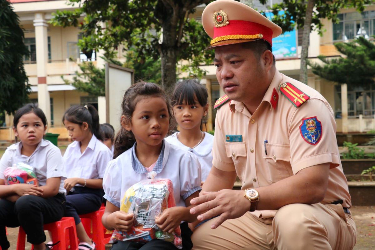
{"label": "white blouse of the girl with bangs wearing a necklace", "polygon": [[203,141],[195,148],[189,148],[182,144],[180,141],[178,141],[177,133],[178,132],[172,134],[171,136],[168,136],[167,138],[165,138],[165,141],[169,142],[170,144],[174,144],[182,148],[183,150],[193,152],[196,155],[196,157],[198,157],[199,163],[201,163],[202,181],[205,181],[212,167],[211,151],[214,136],[207,132],[203,132]]}

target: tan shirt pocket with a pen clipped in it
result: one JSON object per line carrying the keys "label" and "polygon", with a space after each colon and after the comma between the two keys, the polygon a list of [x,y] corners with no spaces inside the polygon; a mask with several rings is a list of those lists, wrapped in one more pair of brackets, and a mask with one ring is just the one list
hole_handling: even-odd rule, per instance
{"label": "tan shirt pocket with a pen clipped in it", "polygon": [[264,150],[262,150],[262,154],[269,175],[267,180],[270,183],[275,183],[293,175],[290,165],[290,146],[267,143],[266,147],[267,155]]}

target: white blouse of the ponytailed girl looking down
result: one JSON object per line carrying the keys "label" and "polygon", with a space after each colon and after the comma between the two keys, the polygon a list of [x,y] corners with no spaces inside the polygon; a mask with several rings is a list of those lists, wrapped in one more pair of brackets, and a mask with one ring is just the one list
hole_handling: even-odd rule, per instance
{"label": "white blouse of the ponytailed girl looking down", "polygon": [[[67,178],[101,179],[107,163],[113,159],[111,150],[95,135],[86,150],[81,153],[80,142],[69,144],[64,154]],[[77,184],[76,186],[81,186]]]}

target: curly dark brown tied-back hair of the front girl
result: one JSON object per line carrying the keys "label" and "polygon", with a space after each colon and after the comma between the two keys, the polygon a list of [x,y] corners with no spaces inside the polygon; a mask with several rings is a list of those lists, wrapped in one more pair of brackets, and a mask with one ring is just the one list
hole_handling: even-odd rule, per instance
{"label": "curly dark brown tied-back hair of the front girl", "polygon": [[[165,94],[165,91],[157,84],[153,82],[139,81],[131,85],[124,94],[123,101],[121,103],[121,115],[124,115],[128,121],[132,119],[133,112],[135,110],[136,104],[142,97],[162,97],[165,99],[166,106],[168,108],[169,114],[169,131],[168,134],[174,128],[174,116],[172,112],[172,107],[169,103],[169,98]],[[113,159],[117,156],[133,147],[135,143],[135,138],[132,131],[127,131],[121,126],[120,131],[115,137],[114,153]]]}

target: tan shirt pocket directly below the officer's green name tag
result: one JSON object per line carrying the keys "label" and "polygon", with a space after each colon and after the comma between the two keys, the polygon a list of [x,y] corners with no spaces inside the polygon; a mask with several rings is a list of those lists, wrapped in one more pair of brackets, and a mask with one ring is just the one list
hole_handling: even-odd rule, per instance
{"label": "tan shirt pocket directly below the officer's green name tag", "polygon": [[231,158],[236,168],[240,180],[243,180],[242,174],[245,171],[248,151],[245,142],[225,142],[226,156]]}

